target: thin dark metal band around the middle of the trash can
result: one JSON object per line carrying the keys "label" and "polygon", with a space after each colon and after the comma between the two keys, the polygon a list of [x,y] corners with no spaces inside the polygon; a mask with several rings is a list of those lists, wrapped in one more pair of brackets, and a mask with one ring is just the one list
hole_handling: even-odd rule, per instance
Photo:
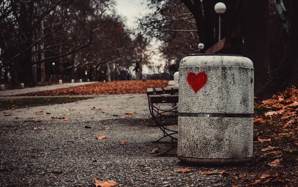
{"label": "thin dark metal band around the middle of the trash can", "polygon": [[204,113],[179,113],[179,117],[238,117],[253,118],[254,114],[204,114]]}

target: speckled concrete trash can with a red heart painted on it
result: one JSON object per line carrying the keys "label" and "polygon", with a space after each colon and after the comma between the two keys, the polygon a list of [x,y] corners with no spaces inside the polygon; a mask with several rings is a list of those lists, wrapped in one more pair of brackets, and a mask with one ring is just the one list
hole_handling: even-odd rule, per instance
{"label": "speckled concrete trash can with a red heart painted on it", "polygon": [[190,54],[179,66],[177,153],[189,164],[252,158],[254,68],[237,55]]}

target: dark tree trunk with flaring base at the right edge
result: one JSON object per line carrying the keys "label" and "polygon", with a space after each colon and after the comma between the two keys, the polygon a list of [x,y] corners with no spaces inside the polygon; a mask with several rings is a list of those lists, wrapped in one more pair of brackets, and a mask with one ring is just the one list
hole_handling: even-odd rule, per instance
{"label": "dark tree trunk with flaring base at the right edge", "polygon": [[290,31],[286,54],[280,66],[274,71],[268,83],[255,93],[258,100],[270,98],[287,87],[298,86],[298,1],[291,0]]}

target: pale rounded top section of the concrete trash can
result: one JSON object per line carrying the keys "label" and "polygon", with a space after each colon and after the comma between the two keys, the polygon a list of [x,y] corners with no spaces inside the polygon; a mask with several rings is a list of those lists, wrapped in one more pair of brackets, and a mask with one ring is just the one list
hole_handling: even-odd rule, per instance
{"label": "pale rounded top section of the concrete trash can", "polygon": [[231,54],[190,54],[181,59],[179,66],[254,67],[249,58]]}

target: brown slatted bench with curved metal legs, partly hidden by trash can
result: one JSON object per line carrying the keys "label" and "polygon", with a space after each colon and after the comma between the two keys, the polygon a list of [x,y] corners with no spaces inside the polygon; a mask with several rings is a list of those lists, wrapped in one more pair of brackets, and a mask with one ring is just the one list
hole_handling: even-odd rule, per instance
{"label": "brown slatted bench with curved metal legs, partly hidden by trash can", "polygon": [[[226,53],[227,49],[230,46],[231,39],[226,37],[223,40],[219,41],[211,48],[206,50],[206,54],[217,54],[217,53]],[[153,120],[159,126],[159,128],[163,131],[163,136],[154,141],[160,142],[160,140],[169,137],[171,139],[172,148],[162,153],[161,155],[169,152],[176,148],[177,137],[176,134],[178,131],[173,128],[169,128],[165,125],[164,121],[170,118],[178,118],[178,94],[179,89],[177,87],[164,87],[164,88],[148,88],[147,96],[150,113],[153,117]],[[162,108],[160,105],[164,105],[165,103],[170,103],[171,105],[167,105],[166,108]],[[156,105],[154,105],[156,104]],[[177,125],[178,122],[174,122],[172,125]]]}

